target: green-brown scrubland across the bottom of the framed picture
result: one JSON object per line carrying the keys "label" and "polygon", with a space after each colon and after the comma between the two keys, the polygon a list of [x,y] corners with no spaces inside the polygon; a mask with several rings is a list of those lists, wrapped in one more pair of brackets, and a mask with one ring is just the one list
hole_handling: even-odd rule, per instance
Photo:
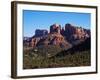
{"label": "green-brown scrubland across the bottom of the framed picture", "polygon": [[63,52],[64,51],[57,46],[42,46],[29,50],[24,49],[23,68],[34,69],[91,65],[90,50],[75,51],[73,54],[66,52],[67,55],[56,56],[56,54],[63,54]]}

